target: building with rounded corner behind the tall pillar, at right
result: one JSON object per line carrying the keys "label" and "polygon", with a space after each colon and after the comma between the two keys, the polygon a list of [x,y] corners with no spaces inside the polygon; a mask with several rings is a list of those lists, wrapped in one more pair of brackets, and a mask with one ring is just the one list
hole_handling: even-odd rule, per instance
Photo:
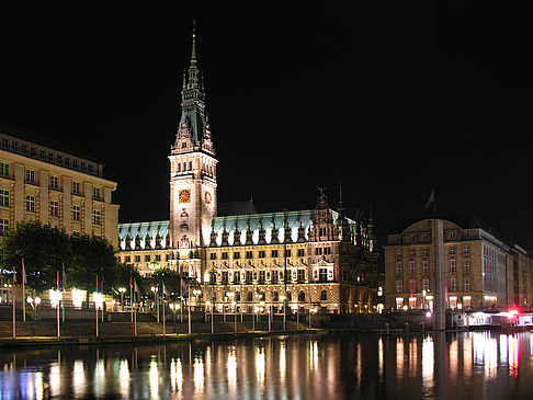
{"label": "building with rounded corner behind the tall pillar, at right", "polygon": [[[532,258],[474,216],[440,218],[446,307],[530,309]],[[400,222],[385,245],[387,309],[432,308],[435,258],[431,219]]]}

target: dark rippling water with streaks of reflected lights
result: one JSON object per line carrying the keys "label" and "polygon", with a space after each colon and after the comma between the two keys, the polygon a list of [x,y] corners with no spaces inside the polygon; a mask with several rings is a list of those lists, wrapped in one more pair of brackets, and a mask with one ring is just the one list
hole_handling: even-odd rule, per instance
{"label": "dark rippling water with streaks of reflected lights", "polygon": [[532,399],[530,333],[3,351],[0,399]]}

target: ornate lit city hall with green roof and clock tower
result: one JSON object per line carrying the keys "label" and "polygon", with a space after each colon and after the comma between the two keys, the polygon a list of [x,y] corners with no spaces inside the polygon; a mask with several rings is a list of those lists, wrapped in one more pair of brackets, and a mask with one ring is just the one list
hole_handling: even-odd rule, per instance
{"label": "ornate lit city hall with green roof and clock tower", "polygon": [[196,65],[183,76],[182,114],[169,155],[170,218],[120,224],[118,258],[141,275],[168,267],[199,282],[215,310],[375,310],[378,252],[372,217],[315,209],[257,214],[251,202],[217,204],[217,158]]}

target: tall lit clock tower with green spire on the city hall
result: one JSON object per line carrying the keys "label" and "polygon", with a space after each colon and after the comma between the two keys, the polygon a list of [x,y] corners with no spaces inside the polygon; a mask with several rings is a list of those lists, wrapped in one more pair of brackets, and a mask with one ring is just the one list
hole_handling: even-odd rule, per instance
{"label": "tall lit clock tower with green spire on the city hall", "polygon": [[216,164],[205,112],[203,79],[196,66],[193,25],[189,69],[183,72],[181,118],[170,160],[170,240],[180,271],[201,282],[201,253],[216,216]]}

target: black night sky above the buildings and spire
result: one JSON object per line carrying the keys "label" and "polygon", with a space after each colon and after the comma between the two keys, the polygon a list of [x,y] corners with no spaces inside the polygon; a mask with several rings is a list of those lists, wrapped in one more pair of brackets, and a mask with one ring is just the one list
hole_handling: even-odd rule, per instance
{"label": "black night sky above the buildings and spire", "polygon": [[383,240],[429,216],[436,187],[438,213],[533,248],[528,13],[372,3],[2,8],[0,123],[104,161],[121,221],[168,219],[196,19],[219,202],[308,209],[320,186],[336,207],[342,181],[349,215],[372,203]]}

